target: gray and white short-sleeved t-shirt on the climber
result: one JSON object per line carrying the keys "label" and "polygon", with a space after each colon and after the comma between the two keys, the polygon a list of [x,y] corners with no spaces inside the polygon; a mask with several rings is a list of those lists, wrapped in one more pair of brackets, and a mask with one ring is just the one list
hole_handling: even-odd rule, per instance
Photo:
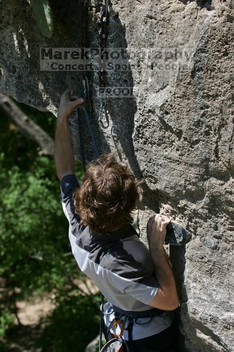
{"label": "gray and white short-sleeved t-shirt on the climber", "polygon": [[[140,241],[138,233],[130,225],[128,230],[119,229],[106,235],[90,231],[80,225],[80,217],[75,214],[73,193],[79,188],[74,174],[61,180],[63,211],[69,221],[69,239],[72,253],[80,270],[86,274],[107,301],[126,311],[146,311],[152,309],[149,302],[155,297],[159,284],[153,274],[153,263],[148,248]],[[111,311],[110,304],[104,305],[104,312]],[[172,323],[174,313],[165,311],[145,325],[134,323],[133,339],[154,335]],[[114,314],[104,315],[108,326]],[[138,322],[149,318],[139,318]],[[128,320],[126,326],[128,327]],[[120,334],[121,326],[110,330]],[[128,340],[128,331],[123,338]]]}

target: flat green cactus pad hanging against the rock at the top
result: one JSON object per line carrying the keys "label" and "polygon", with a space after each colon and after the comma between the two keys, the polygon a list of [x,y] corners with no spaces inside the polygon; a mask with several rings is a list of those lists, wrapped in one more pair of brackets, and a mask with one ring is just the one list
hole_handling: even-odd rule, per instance
{"label": "flat green cactus pad hanging against the rock at the top", "polygon": [[51,38],[53,32],[52,14],[47,0],[30,0],[33,13],[42,34]]}

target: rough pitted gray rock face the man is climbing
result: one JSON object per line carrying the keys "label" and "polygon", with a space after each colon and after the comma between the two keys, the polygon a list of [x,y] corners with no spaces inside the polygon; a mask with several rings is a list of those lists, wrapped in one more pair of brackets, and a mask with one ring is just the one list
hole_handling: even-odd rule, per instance
{"label": "rough pitted gray rock face the man is climbing", "polygon": [[[55,113],[66,86],[80,89],[80,73],[40,72],[38,51],[81,45],[77,3],[51,2],[51,39],[40,34],[27,2],[5,4],[1,92]],[[133,98],[108,100],[107,130],[97,122],[98,76],[89,74],[100,151],[117,150],[146,180],[139,212],[143,241],[148,217],[159,209],[192,233],[186,246],[170,248],[181,299],[180,350],[188,352],[233,350],[233,6],[218,0],[113,1],[107,46],[157,48],[167,56],[107,73],[108,86],[135,92]],[[97,47],[100,3],[92,0],[89,11],[89,46]],[[76,126],[73,119],[79,158]],[[90,160],[92,146],[83,133]]]}

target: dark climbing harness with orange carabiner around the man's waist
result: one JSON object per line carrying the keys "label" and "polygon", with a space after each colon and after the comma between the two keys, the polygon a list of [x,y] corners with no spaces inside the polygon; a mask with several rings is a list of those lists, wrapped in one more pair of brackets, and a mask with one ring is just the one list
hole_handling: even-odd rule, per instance
{"label": "dark climbing harness with orange carabiner around the man's waist", "polygon": [[[161,310],[158,308],[152,308],[152,309],[149,309],[146,311],[125,311],[125,310],[111,304],[111,307],[112,307],[111,311],[108,313],[105,313],[103,311],[103,305],[104,304],[101,305],[100,310],[104,315],[109,315],[109,314],[114,313],[114,316],[115,316],[114,319],[112,320],[112,322],[110,323],[110,325],[107,327],[106,335],[110,332],[110,330],[112,328],[116,328],[117,324],[122,323],[120,336],[116,335],[115,333],[113,335],[115,338],[118,338],[122,343],[125,344],[125,340],[122,338],[122,336],[123,336],[124,330],[128,330],[128,336],[129,336],[128,344],[129,344],[129,346],[126,345],[127,352],[134,352],[135,351],[134,344],[133,344],[133,336],[132,336],[134,323],[137,325],[148,324],[152,321],[152,319],[155,316],[161,315],[163,312],[165,312],[164,310]],[[140,321],[138,321],[140,318],[149,318],[149,320],[147,320],[145,322],[140,322]],[[127,319],[128,319],[129,324],[128,324],[128,327],[125,329],[125,323],[126,323]],[[129,349],[129,347],[131,349]],[[113,351],[117,351],[117,349],[113,349]]]}

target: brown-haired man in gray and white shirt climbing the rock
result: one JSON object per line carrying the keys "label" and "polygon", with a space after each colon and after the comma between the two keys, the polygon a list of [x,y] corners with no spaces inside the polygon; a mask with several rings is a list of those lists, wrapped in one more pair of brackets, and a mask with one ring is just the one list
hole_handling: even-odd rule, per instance
{"label": "brown-haired man in gray and white shirt climbing the rock", "polygon": [[[178,296],[163,247],[170,219],[162,214],[149,219],[148,250],[131,225],[131,212],[141,199],[139,183],[112,154],[92,162],[79,185],[69,117],[82,102],[72,90],[66,90],[55,132],[55,165],[72,253],[80,270],[108,301],[103,305],[107,340],[113,334],[119,336],[124,326],[126,351],[175,351],[172,322]],[[121,316],[125,321],[114,324]]]}

